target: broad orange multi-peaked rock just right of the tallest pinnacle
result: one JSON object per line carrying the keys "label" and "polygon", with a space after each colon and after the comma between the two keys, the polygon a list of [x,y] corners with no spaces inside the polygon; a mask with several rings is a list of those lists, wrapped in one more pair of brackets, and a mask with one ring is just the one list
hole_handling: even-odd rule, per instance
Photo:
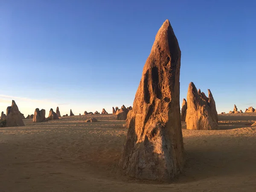
{"label": "broad orange multi-peaked rock just right of the tallest pinnacle", "polygon": [[209,98],[204,98],[204,94],[199,94],[195,84],[189,84],[187,95],[186,125],[187,129],[217,130],[218,113],[212,93],[208,90]]}

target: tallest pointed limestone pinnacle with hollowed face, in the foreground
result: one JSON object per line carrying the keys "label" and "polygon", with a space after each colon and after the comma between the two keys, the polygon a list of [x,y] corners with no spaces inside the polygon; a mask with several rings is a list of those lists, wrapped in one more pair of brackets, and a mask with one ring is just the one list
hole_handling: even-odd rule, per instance
{"label": "tallest pointed limestone pinnacle with hollowed face, in the foreground", "polygon": [[157,32],[143,68],[119,166],[131,177],[168,181],[183,169],[180,48],[169,20]]}

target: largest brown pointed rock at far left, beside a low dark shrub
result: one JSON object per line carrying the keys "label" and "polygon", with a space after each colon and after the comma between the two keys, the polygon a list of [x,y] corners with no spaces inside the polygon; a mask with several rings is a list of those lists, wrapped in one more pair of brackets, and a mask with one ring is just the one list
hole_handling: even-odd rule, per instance
{"label": "largest brown pointed rock at far left, beside a low dark shrub", "polygon": [[25,126],[15,101],[6,109],[6,127]]}

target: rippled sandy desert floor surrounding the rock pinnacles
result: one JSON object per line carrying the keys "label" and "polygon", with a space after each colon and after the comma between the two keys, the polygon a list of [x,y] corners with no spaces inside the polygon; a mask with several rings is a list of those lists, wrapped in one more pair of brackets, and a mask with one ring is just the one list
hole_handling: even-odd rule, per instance
{"label": "rippled sandy desert floor surrounding the rock pinnacles", "polygon": [[113,115],[67,116],[0,128],[0,192],[256,191],[256,113],[219,115],[218,131],[186,130],[173,183],[136,180],[116,165],[127,129]]}

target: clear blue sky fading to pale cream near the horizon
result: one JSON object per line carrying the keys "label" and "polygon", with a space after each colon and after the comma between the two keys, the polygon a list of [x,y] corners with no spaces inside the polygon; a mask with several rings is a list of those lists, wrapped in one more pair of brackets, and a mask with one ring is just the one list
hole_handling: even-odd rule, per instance
{"label": "clear blue sky fading to pale cream near the horizon", "polygon": [[0,111],[61,114],[130,106],[169,19],[181,49],[180,101],[193,81],[218,113],[256,107],[253,0],[0,0]]}

